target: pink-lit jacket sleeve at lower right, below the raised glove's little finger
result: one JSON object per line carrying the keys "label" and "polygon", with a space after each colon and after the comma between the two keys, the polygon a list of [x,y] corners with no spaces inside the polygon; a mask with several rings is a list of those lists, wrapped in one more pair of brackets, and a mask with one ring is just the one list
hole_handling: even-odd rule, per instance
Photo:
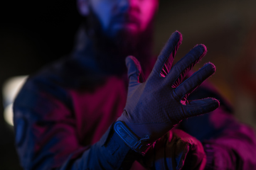
{"label": "pink-lit jacket sleeve at lower right, below the raised glove's little finger", "polygon": [[203,143],[205,169],[255,169],[255,130],[238,122],[221,106],[213,113],[183,121],[181,127]]}

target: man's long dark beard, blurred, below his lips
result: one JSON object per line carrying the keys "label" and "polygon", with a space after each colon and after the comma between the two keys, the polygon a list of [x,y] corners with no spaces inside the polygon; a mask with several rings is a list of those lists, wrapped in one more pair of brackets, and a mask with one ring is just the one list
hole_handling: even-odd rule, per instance
{"label": "man's long dark beard, blurred, below his lips", "polygon": [[153,21],[142,33],[129,33],[119,30],[114,37],[102,31],[100,21],[94,13],[90,13],[85,21],[88,38],[92,40],[93,53],[99,66],[114,74],[123,74],[127,71],[125,58],[129,55],[137,57],[145,69],[151,58],[153,44]]}

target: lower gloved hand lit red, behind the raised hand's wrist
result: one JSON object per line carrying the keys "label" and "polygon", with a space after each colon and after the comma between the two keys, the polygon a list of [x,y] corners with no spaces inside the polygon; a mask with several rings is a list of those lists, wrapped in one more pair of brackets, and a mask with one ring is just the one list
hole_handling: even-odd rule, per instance
{"label": "lower gloved hand lit red, behind the raised hand's wrist", "polygon": [[139,162],[147,169],[201,170],[206,166],[206,153],[196,137],[175,129],[156,140]]}

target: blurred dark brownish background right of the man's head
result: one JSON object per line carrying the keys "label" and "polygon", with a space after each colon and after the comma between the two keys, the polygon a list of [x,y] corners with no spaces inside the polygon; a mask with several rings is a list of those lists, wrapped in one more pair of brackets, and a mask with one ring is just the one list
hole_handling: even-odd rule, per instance
{"label": "blurred dark brownish background right of the man's head", "polygon": [[232,103],[238,120],[256,128],[256,87],[248,87],[256,86],[251,80],[256,77],[255,6],[252,0],[160,1],[154,52],[175,30],[183,34],[176,61],[194,45],[205,44],[208,54],[195,70],[213,62],[216,73],[210,81]]}

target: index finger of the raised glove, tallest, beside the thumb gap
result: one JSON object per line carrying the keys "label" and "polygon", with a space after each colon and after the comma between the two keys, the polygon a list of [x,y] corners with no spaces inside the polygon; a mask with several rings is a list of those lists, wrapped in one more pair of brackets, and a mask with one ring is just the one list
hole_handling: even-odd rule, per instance
{"label": "index finger of the raised glove, tallest, beside the thumb gap", "polygon": [[174,62],[174,56],[178,50],[178,46],[181,45],[182,35],[178,31],[171,34],[171,37],[166,42],[163,50],[156,60],[153,71],[160,77],[166,77],[171,70],[171,65]]}

